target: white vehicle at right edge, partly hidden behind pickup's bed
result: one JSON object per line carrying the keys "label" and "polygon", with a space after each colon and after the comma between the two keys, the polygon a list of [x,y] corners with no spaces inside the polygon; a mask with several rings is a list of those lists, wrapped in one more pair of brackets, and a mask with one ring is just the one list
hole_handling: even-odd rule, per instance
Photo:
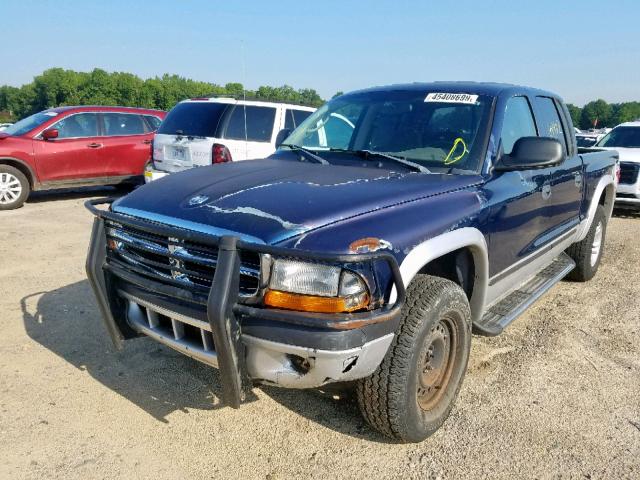
{"label": "white vehicle at right edge, partly hidden behind pickup's bed", "polygon": [[620,183],[616,207],[640,209],[640,121],[618,125],[605,135],[597,148],[620,153]]}

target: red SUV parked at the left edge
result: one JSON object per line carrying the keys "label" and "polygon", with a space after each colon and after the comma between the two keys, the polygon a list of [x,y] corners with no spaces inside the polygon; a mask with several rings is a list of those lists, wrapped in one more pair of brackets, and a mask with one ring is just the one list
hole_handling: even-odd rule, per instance
{"label": "red SUV parked at the left edge", "polygon": [[143,179],[166,113],[127,107],[60,107],[0,132],[0,210],[32,190],[115,185]]}

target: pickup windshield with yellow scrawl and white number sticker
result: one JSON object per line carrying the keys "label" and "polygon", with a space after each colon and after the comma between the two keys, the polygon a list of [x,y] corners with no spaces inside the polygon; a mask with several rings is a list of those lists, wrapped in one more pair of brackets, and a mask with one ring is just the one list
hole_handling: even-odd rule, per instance
{"label": "pickup windshield with yellow scrawl and white number sticker", "polygon": [[482,95],[374,91],[320,107],[285,141],[309,150],[371,151],[429,169],[476,172],[492,98]]}

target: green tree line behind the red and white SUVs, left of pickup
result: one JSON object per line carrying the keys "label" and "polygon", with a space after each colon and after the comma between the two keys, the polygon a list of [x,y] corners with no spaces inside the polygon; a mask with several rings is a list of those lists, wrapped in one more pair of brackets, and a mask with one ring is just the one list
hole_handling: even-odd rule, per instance
{"label": "green tree line behind the red and white SUVs, left of pickup", "polygon": [[[131,73],[76,72],[51,68],[21,87],[0,86],[0,121],[18,120],[63,105],[119,105],[169,110],[186,98],[231,95],[318,107],[324,100],[311,88],[262,86],[243,91],[241,83],[200,82],[179,75],[142,79]],[[4,118],[2,118],[4,117]]]}

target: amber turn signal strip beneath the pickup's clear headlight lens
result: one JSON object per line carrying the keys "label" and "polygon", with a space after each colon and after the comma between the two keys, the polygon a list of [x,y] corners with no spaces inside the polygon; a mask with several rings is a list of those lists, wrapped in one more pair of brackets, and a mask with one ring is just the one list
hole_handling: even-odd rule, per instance
{"label": "amber turn signal strip beneath the pickup's clear headlight lens", "polygon": [[366,308],[369,304],[369,295],[362,293],[349,297],[318,297],[268,290],[264,303],[268,307],[299,312],[348,313]]}

